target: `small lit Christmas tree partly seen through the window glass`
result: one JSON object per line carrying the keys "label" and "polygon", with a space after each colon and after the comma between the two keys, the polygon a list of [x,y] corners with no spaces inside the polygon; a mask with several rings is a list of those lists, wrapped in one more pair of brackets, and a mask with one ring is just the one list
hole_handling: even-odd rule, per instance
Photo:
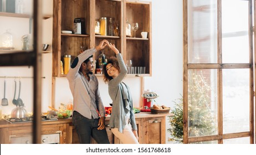
{"label": "small lit Christmas tree partly seen through the window glass", "polygon": [[[188,77],[188,136],[207,136],[217,130],[216,118],[211,110],[211,87],[204,80],[202,70],[190,70]],[[170,117],[172,138],[170,141],[183,141],[183,99],[178,99]],[[201,143],[201,142],[198,142]],[[204,142],[208,143],[208,142]]]}

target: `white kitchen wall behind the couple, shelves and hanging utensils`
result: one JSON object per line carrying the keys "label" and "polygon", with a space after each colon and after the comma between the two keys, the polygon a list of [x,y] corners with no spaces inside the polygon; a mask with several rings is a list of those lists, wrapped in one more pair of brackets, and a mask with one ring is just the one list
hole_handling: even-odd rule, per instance
{"label": "white kitchen wall behind the couple, shelves and hanging utensils", "polygon": [[[52,0],[43,1],[44,14],[52,14]],[[13,30],[15,44],[21,48],[21,36],[28,33],[27,19],[17,19],[0,17],[0,34],[7,28]],[[10,23],[2,24],[2,21]],[[145,89],[154,90],[160,97],[156,102],[160,105],[173,107],[173,101],[181,97],[182,94],[182,1],[177,0],[152,0],[152,77],[145,77]],[[18,29],[17,31],[15,31]],[[52,40],[52,18],[43,21],[43,42],[51,44]],[[0,68],[0,76],[32,76],[33,70],[28,67]],[[42,111],[47,111],[51,104],[52,94],[52,54],[43,54],[43,76],[42,80]],[[0,97],[3,97],[3,80],[0,78]],[[14,92],[14,79],[7,79],[8,90],[7,99],[9,106],[3,107],[3,113],[11,113],[15,107],[12,104]],[[103,82],[103,77],[98,78],[100,82],[100,94],[105,106],[111,102],[107,92],[107,85]],[[25,102],[27,111],[32,111],[32,79],[22,79],[25,87],[22,87],[21,98]],[[140,78],[127,77],[125,82],[132,90],[134,107],[138,107],[141,97]],[[73,97],[68,87],[65,77],[56,78],[55,107],[60,103],[71,102]],[[16,95],[17,96],[17,95]],[[16,97],[17,98],[17,97]],[[168,119],[166,129],[169,128]],[[166,132],[166,142],[170,134]]]}

